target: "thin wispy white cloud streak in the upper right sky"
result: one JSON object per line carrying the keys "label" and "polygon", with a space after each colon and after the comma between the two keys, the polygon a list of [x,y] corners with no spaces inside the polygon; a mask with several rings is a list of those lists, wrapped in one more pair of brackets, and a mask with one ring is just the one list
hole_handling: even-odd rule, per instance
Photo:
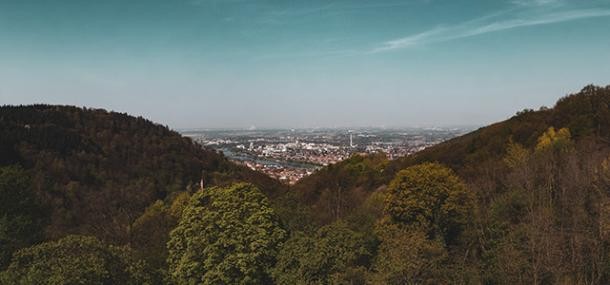
{"label": "thin wispy white cloud streak in the upper right sky", "polygon": [[[556,4],[557,0],[532,0],[519,1],[532,2],[538,5]],[[554,10],[551,12],[543,11],[536,13],[522,13],[512,15],[514,9],[502,13],[488,15],[482,18],[463,22],[454,26],[440,26],[418,34],[403,38],[393,39],[381,43],[369,51],[369,53],[379,53],[397,49],[409,48],[417,45],[430,43],[446,42],[460,38],[473,37],[477,35],[500,32],[504,30],[516,29],[521,27],[547,25],[553,23],[574,21],[595,17],[610,16],[610,9],[576,9],[576,10]]]}

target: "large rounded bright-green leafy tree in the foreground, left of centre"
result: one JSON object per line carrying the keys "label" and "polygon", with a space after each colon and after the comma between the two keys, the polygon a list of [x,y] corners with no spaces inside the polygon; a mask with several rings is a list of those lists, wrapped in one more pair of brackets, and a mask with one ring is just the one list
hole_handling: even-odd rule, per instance
{"label": "large rounded bright-green leafy tree in the foreground, left of centre", "polygon": [[206,188],[193,195],[168,242],[177,284],[269,282],[287,233],[253,185]]}

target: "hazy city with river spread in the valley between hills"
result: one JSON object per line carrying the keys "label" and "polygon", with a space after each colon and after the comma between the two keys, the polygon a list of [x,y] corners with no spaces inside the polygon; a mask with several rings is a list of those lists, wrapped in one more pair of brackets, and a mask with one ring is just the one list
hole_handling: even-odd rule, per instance
{"label": "hazy city with river spread in the valley between hills", "polygon": [[460,128],[363,128],[183,130],[230,160],[294,184],[317,169],[353,154],[384,153],[395,159],[472,130]]}

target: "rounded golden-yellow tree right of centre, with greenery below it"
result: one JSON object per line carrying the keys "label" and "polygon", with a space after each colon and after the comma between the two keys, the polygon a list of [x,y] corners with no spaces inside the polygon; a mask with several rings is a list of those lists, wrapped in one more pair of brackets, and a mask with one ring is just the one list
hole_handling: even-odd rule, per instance
{"label": "rounded golden-yellow tree right of centre, with greenery below it", "polygon": [[446,268],[446,246],[459,245],[473,223],[474,203],[474,193],[447,167],[424,163],[400,171],[388,187],[386,216],[376,227],[381,244],[371,283],[438,284],[464,275]]}

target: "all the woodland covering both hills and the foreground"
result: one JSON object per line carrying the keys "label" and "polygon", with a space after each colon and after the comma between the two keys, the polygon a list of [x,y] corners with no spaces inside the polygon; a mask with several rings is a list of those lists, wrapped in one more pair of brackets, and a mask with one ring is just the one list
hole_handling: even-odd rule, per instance
{"label": "all the woodland covering both hills and the foreground", "polygon": [[[284,192],[141,118],[1,107],[0,280],[609,284],[608,110],[610,87],[589,86]],[[198,191],[202,170],[213,187]]]}

